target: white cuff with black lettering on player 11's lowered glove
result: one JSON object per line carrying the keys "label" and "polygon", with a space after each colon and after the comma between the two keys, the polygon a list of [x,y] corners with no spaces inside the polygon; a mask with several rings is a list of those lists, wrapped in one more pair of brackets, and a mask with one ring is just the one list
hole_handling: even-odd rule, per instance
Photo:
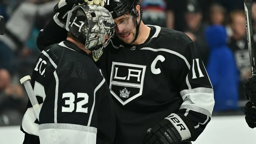
{"label": "white cuff with black lettering on player 11's lowered glove", "polygon": [[180,133],[181,140],[187,140],[195,136],[195,129],[192,129],[193,124],[186,116],[172,113],[164,119],[172,123],[175,129]]}

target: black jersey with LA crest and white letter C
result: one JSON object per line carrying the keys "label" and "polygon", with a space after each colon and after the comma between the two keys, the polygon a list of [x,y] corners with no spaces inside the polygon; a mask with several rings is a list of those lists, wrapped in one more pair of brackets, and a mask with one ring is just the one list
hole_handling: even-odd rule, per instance
{"label": "black jersey with LA crest and white letter C", "polygon": [[115,144],[141,144],[148,128],[171,113],[187,116],[196,138],[211,119],[213,89],[192,40],[149,26],[148,40],[131,46],[112,39],[97,62],[116,104]]}

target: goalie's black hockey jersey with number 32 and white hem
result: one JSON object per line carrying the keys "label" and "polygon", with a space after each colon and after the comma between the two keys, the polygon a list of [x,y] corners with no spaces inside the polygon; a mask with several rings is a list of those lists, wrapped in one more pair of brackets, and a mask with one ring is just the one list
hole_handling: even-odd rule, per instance
{"label": "goalie's black hockey jersey with number 32 and white hem", "polygon": [[116,116],[108,84],[91,56],[79,50],[66,41],[40,54],[31,79],[39,124],[28,101],[23,144],[113,143]]}

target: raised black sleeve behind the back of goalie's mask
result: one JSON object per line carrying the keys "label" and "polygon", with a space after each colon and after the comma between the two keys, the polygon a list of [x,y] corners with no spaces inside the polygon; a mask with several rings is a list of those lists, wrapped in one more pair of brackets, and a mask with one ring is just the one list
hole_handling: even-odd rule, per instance
{"label": "raised black sleeve behind the back of goalie's mask", "polygon": [[50,20],[47,26],[37,36],[36,45],[40,52],[49,45],[60,43],[67,39],[67,30],[60,27],[55,21],[54,19]]}

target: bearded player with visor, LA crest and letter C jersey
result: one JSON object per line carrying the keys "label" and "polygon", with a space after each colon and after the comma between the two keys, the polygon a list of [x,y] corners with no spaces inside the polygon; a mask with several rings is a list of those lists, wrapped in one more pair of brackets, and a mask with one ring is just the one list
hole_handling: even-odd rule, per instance
{"label": "bearded player with visor, LA crest and letter C jersey", "polygon": [[[139,0],[107,0],[106,8],[116,37],[97,64],[116,106],[114,143],[195,141],[211,120],[214,99],[193,41],[179,31],[144,25]],[[38,35],[38,48],[60,41],[60,33],[67,32],[58,22],[48,25]]]}

